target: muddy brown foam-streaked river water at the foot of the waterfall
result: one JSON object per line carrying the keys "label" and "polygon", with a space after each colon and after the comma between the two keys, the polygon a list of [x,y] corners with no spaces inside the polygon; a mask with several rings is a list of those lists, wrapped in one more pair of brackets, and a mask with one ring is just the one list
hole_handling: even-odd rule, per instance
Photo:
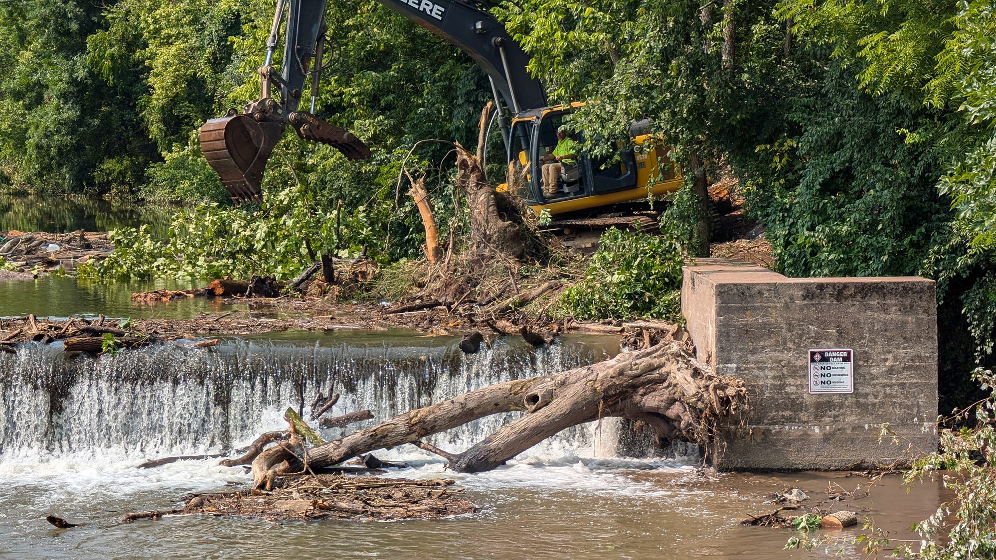
{"label": "muddy brown foam-streaked river water at the foot of the waterfall", "polygon": [[[201,463],[201,462],[196,462]],[[692,467],[638,464],[547,465],[523,461],[494,472],[455,476],[484,509],[454,519],[395,523],[166,517],[119,523],[129,509],[169,507],[187,489],[206,489],[238,472],[203,464],[137,474],[115,467],[21,471],[3,467],[0,554],[19,558],[864,558],[840,533],[812,551],[783,550],[788,530],[745,527],[746,512],[769,511],[768,494],[797,486],[814,497],[829,483],[854,489],[864,479],[834,473],[716,474]],[[649,464],[639,465],[648,467]],[[439,465],[399,472],[437,475]],[[227,469],[225,469],[227,470]],[[117,474],[113,475],[113,474]],[[895,476],[879,480],[851,507],[898,538],[929,515],[937,485],[910,493]],[[57,513],[90,524],[56,529]]]}

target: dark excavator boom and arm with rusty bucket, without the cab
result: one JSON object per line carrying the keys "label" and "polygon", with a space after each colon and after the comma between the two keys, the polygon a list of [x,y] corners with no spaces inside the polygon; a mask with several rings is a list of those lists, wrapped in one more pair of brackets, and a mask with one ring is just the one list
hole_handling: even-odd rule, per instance
{"label": "dark excavator boom and arm with rusty bucket, without the cab", "polygon": [[[496,101],[500,93],[514,112],[546,105],[543,87],[526,72],[529,56],[486,9],[460,0],[378,1],[473,58],[490,78]],[[327,32],[325,7],[326,0],[278,0],[266,60],[259,68],[260,97],[243,112],[232,109],[200,129],[204,157],[236,201],[259,197],[266,162],[288,124],[302,138],[330,144],[350,159],[370,157],[370,148],[353,133],[314,114]],[[284,59],[278,72],[272,62],[285,15]],[[309,78],[311,106],[302,110]],[[504,118],[500,124],[508,138]]]}

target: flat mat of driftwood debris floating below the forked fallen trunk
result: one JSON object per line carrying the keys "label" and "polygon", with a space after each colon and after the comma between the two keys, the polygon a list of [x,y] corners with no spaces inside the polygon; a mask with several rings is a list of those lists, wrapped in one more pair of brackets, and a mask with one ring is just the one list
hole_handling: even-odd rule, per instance
{"label": "flat mat of driftwood debris floating below the forked fallen trunk", "polygon": [[479,509],[453,480],[411,480],[344,474],[302,475],[270,491],[189,494],[185,505],[165,511],[127,513],[122,521],[163,515],[234,515],[270,520],[345,519],[399,521],[473,513]]}

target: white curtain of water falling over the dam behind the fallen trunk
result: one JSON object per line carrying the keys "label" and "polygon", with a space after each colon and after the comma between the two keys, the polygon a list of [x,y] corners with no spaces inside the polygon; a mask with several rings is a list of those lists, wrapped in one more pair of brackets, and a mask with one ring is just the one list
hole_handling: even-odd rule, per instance
{"label": "white curtain of water falling over the dam behind the fallen trunk", "polygon": [[[210,348],[177,341],[100,357],[67,354],[60,344],[21,345],[16,354],[0,353],[0,460],[227,451],[261,432],[286,428],[287,407],[303,407],[310,418],[316,395],[328,396],[330,387],[342,398],[326,416],[373,412],[373,420],[345,429],[352,432],[466,391],[579,367],[618,351],[615,339],[566,337],[534,349],[507,337],[467,355],[457,341],[369,333],[232,338]],[[428,441],[459,452],[517,416],[484,418]],[[322,431],[327,440],[343,432]],[[554,445],[591,457],[593,432],[576,427]]]}

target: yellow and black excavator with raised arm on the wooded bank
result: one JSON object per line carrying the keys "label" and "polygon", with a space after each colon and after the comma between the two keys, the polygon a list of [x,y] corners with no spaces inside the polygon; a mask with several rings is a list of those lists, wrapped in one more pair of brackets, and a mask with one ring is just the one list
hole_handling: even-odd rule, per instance
{"label": "yellow and black excavator with raised arm on the wooded bank", "polygon": [[[557,144],[557,131],[565,117],[583,103],[548,105],[543,86],[526,70],[530,56],[481,2],[378,1],[458,47],[487,74],[499,107],[496,119],[506,163],[517,162],[522,170],[522,180],[511,190],[537,215],[546,211],[551,216],[578,216],[680,187],[682,179],[665,146],[645,133],[645,123],[637,122],[626,141],[614,143],[614,156],[577,154],[577,171],[570,177],[562,174],[556,194],[545,196],[539,172],[544,157]],[[241,113],[230,109],[200,129],[204,156],[236,202],[260,196],[267,159],[288,124],[300,137],[332,145],[347,158],[371,155],[370,147],[356,135],[315,114],[328,34],[325,6],[326,0],[277,0],[266,59],[258,71],[262,78],[259,98],[246,104]],[[278,70],[273,58],[282,27],[283,63]],[[309,110],[301,107],[306,85],[310,85]],[[574,139],[584,140],[584,134]],[[497,189],[508,191],[510,187],[502,184]]]}

